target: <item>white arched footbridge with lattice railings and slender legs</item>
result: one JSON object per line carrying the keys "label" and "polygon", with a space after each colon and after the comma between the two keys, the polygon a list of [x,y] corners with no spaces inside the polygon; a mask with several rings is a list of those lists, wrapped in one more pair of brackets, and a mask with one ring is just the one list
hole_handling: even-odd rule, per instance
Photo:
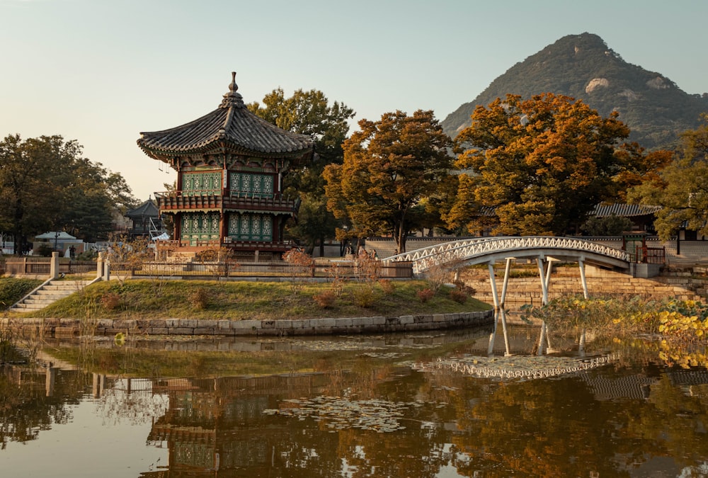
{"label": "white arched footbridge with lattice railings and slender legs", "polygon": [[[586,239],[552,236],[481,237],[450,241],[391,256],[383,261],[384,263],[411,261],[413,273],[416,275],[431,273],[435,270],[454,270],[474,264],[489,264],[494,306],[503,307],[511,261],[518,258],[536,259],[544,304],[548,302],[551,261],[577,262],[580,265],[583,293],[586,298],[588,297],[588,285],[585,278],[585,263],[625,270],[629,270],[632,263],[632,254],[622,249],[615,249]],[[506,261],[501,300],[497,296],[494,282],[493,265],[497,261]],[[544,263],[547,264],[547,268],[544,268]]]}

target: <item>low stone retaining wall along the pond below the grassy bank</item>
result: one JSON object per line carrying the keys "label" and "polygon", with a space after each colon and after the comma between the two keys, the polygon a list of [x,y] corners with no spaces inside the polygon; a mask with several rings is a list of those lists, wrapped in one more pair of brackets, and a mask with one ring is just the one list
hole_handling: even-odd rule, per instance
{"label": "low stone retaining wall along the pond below the grassy bank", "polygon": [[[149,335],[292,336],[321,334],[381,334],[384,332],[453,329],[493,324],[494,313],[403,315],[401,317],[355,317],[346,319],[294,320],[198,320],[198,319],[101,319],[94,335],[119,332]],[[0,326],[21,329],[25,334],[53,337],[79,336],[79,319],[1,319]]]}

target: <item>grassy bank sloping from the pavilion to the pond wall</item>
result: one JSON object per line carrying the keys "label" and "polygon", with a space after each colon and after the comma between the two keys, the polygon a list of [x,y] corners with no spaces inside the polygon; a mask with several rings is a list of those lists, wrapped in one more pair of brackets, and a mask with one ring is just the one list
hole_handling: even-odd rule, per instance
{"label": "grassy bank sloping from the pavilion to the pond wall", "polygon": [[[441,288],[426,300],[421,280],[346,283],[129,280],[96,283],[32,317],[96,319],[316,319],[474,312],[491,307],[464,303]],[[452,292],[452,294],[451,294]],[[27,314],[30,315],[30,314]],[[21,316],[20,316],[21,317]]]}

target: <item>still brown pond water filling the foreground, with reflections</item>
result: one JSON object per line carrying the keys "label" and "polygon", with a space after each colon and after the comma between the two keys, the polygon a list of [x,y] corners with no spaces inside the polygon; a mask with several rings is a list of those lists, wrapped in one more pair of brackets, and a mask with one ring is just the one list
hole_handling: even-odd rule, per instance
{"label": "still brown pond water filling the foreground, with reflections", "polygon": [[0,476],[708,476],[707,370],[548,338],[45,343],[0,368]]}

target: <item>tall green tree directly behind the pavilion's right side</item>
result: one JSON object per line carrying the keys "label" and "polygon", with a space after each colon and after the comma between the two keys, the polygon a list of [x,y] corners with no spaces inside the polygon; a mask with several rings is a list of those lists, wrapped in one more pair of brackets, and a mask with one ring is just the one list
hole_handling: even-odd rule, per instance
{"label": "tall green tree directly behind the pavilion's right side", "polygon": [[299,89],[286,98],[280,88],[265,95],[262,105],[254,102],[248,108],[283,130],[314,138],[314,161],[294,165],[284,179],[285,193],[298,196],[301,201],[297,222],[288,225],[286,234],[297,239],[311,254],[319,244],[323,254],[324,241],[334,237],[338,221],[324,207],[322,171],[327,164],[341,164],[342,143],[349,132],[348,121],[354,117],[354,110],[338,101],[330,104],[318,90]]}

